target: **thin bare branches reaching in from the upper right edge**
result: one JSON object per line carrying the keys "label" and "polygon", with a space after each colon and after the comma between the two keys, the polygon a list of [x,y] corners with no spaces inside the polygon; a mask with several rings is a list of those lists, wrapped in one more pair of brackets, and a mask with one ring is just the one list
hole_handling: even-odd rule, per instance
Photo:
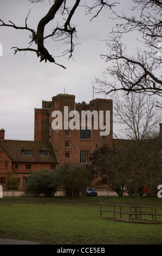
{"label": "thin bare branches reaching in from the upper right edge", "polygon": [[[114,13],[114,19],[120,20],[107,40],[108,53],[101,54],[110,65],[103,72],[103,78],[96,78],[100,85],[99,92],[106,95],[118,91],[144,93],[147,95],[162,95],[162,31],[161,7],[158,0],[132,0],[135,4],[132,10],[139,12],[139,18],[127,17]],[[138,32],[144,50],[138,49],[137,54],[127,54],[122,38],[125,34]],[[141,38],[141,39],[140,39]],[[133,45],[135,48],[135,44]],[[109,82],[110,78],[113,79]]]}

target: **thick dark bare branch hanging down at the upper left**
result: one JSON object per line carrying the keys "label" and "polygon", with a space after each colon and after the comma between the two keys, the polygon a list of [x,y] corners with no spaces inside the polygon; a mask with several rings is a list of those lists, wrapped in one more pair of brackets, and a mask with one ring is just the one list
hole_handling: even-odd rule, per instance
{"label": "thick dark bare branch hanging down at the upper left", "polygon": [[[28,1],[30,1],[31,3],[43,2],[43,0],[28,0]],[[41,62],[42,60],[45,60],[45,62],[47,62],[48,60],[51,63],[55,63],[57,65],[62,66],[62,68],[65,68],[63,65],[55,62],[53,55],[50,54],[48,49],[44,46],[44,40],[48,38],[53,38],[54,40],[60,40],[60,41],[63,41],[63,43],[70,44],[70,48],[64,51],[63,54],[68,53],[69,58],[73,56],[74,46],[75,46],[74,38],[76,36],[76,26],[72,25],[72,18],[74,16],[76,9],[81,7],[80,5],[81,1],[80,0],[75,0],[75,1],[55,0],[53,2],[54,3],[51,4],[49,1],[49,3],[51,4],[50,9],[48,13],[44,17],[42,17],[40,22],[38,22],[36,31],[33,28],[29,28],[27,25],[29,14],[25,19],[25,26],[17,26],[12,21],[9,21],[9,23],[5,23],[2,20],[0,20],[1,22],[0,26],[12,27],[15,29],[22,29],[22,30],[31,32],[29,47],[25,47],[25,48],[12,47],[12,48],[15,48],[15,53],[17,53],[17,51],[35,52],[37,54],[37,57],[40,57]],[[105,1],[95,0],[92,6],[88,6],[87,4],[84,5],[84,7],[87,10],[87,13],[93,13],[93,11],[96,10],[96,14],[94,15],[94,17],[99,15],[103,7],[104,8],[108,7],[111,9],[114,6],[115,6],[115,3],[109,4],[109,1],[107,0]],[[62,25],[60,25],[56,19],[57,14],[60,14],[60,16],[62,16],[62,20],[61,20]],[[51,31],[50,34],[44,35],[44,29],[50,21],[53,21],[53,22],[57,21],[56,22],[57,26],[55,26],[55,28]],[[31,45],[33,45],[33,43],[35,43],[36,48],[35,47],[31,48]]]}

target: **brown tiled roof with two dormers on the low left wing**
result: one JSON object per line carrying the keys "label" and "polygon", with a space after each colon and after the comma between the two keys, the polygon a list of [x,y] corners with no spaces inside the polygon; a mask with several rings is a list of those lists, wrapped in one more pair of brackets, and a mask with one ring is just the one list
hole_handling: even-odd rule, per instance
{"label": "brown tiled roof with two dormers on the low left wing", "polygon": [[[36,141],[0,140],[0,146],[12,162],[59,163],[53,143]],[[50,156],[42,156],[42,149],[48,148]],[[31,155],[24,156],[23,150],[31,150]]]}

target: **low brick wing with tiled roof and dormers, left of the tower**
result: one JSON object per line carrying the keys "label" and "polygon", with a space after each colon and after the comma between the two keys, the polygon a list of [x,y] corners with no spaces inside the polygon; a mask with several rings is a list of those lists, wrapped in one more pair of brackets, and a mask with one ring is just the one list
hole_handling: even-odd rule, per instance
{"label": "low brick wing with tiled roof and dormers, left of the tower", "polygon": [[51,142],[0,140],[0,184],[4,190],[10,172],[20,178],[22,188],[30,173],[40,169],[55,169],[58,163]]}

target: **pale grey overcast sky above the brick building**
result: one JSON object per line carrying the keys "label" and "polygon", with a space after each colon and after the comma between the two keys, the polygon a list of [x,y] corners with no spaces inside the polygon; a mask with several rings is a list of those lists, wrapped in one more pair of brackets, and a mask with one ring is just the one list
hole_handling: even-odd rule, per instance
{"label": "pale grey overcast sky above the brick building", "polygon": [[[50,2],[53,3],[52,0]],[[131,0],[118,2],[121,3],[116,4],[115,11],[128,13]],[[27,23],[35,31],[38,21],[50,8],[48,0],[35,4],[28,0],[1,0],[0,6],[0,19],[5,23],[12,21],[17,26],[25,25],[25,17],[31,9]],[[77,25],[75,43],[78,44],[74,60],[68,60],[68,56],[55,58],[56,62],[66,66],[66,70],[53,63],[40,62],[33,52],[17,52],[14,55],[11,47],[28,47],[30,33],[0,27],[0,43],[3,45],[3,56],[0,57],[0,129],[5,129],[5,139],[33,140],[34,108],[41,108],[42,100],[50,101],[53,96],[64,93],[64,88],[66,93],[75,95],[76,102],[89,103],[93,99],[92,82],[95,77],[101,77],[106,68],[99,54],[106,53],[104,40],[116,23],[110,16],[111,10],[104,9],[97,18],[90,21],[92,16],[85,15],[85,8],[77,9],[73,17]],[[60,19],[59,16],[57,19]],[[54,25],[51,23],[51,26]],[[47,26],[45,35],[48,29]],[[133,52],[134,39],[127,36],[126,40],[129,51]],[[66,47],[52,39],[48,39],[46,45],[54,56],[62,54]],[[104,98],[105,95],[95,94],[94,99],[96,97]]]}

